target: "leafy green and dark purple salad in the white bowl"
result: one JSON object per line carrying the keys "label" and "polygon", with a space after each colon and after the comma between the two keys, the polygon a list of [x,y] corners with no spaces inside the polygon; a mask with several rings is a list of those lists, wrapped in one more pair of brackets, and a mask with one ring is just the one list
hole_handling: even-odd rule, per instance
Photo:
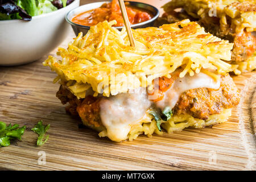
{"label": "leafy green and dark purple salad in the white bowl", "polygon": [[74,0],[2,0],[0,20],[31,20],[32,16],[42,15],[61,9]]}

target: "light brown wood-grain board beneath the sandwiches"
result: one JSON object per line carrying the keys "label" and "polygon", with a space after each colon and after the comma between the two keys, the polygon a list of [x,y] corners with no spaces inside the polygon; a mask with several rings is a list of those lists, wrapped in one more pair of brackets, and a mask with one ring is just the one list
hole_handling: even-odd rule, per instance
{"label": "light brown wood-grain board beneath the sandwiches", "polygon": [[[66,48],[73,36],[71,30],[61,47]],[[55,52],[56,49],[50,55]],[[47,57],[19,67],[0,67],[0,121],[27,126],[22,141],[0,148],[0,169],[256,169],[256,72],[233,77],[242,98],[228,122],[115,143],[99,138],[93,130],[79,129],[80,120],[65,113],[55,97],[59,85],[52,80],[56,74],[42,65]],[[41,119],[44,124],[51,124],[50,137],[46,144],[37,147],[37,135],[31,128]],[[46,154],[43,164],[42,152]]]}

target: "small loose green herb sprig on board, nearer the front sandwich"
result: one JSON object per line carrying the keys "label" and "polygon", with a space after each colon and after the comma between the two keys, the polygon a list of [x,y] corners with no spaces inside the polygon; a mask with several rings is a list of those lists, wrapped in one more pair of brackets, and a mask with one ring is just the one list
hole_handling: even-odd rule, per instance
{"label": "small loose green herb sprig on board, nearer the front sandwich", "polygon": [[47,132],[47,130],[49,130],[50,125],[43,125],[43,121],[39,121],[36,126],[31,129],[32,131],[34,131],[35,133],[37,133],[38,136],[38,141],[36,142],[36,144],[38,146],[42,146],[44,143],[47,142],[49,135],[44,136]]}

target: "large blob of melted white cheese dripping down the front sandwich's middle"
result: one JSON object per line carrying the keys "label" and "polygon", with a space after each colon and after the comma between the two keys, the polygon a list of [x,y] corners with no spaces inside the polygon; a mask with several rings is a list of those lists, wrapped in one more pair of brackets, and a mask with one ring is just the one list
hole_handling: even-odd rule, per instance
{"label": "large blob of melted white cheese dripping down the front sandwich's middle", "polygon": [[146,88],[103,98],[100,101],[100,117],[108,137],[116,142],[127,139],[131,125],[139,122],[150,106]]}

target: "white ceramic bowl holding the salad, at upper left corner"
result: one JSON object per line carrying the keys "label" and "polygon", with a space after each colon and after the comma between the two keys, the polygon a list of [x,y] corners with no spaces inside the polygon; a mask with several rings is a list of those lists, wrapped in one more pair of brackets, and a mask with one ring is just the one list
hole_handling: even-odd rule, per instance
{"label": "white ceramic bowl holding the salad, at upper left corner", "polygon": [[0,65],[20,65],[38,60],[55,49],[69,33],[68,11],[80,0],[51,13],[24,20],[0,20]]}

